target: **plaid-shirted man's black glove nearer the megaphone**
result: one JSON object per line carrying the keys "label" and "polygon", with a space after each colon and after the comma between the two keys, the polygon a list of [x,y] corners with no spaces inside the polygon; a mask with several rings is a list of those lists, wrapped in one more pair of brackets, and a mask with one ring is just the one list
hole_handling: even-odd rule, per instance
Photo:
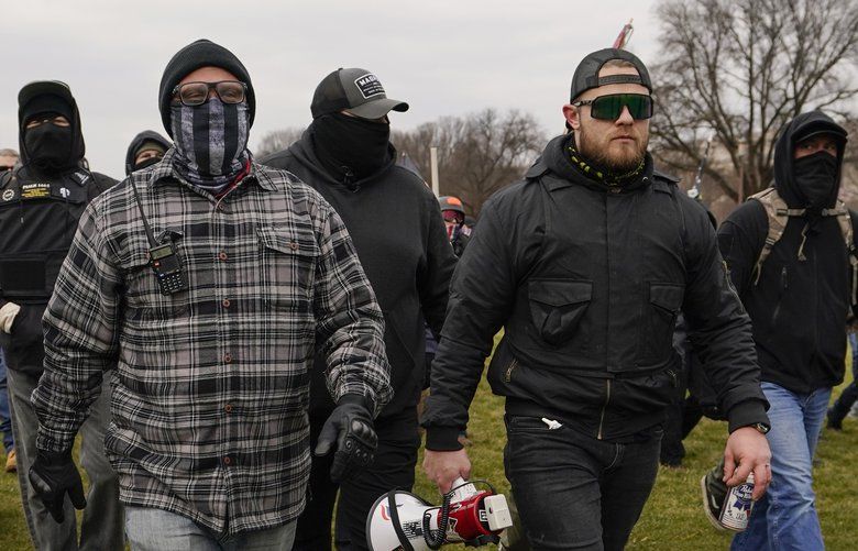
{"label": "plaid-shirted man's black glove nearer the megaphone", "polygon": [[340,398],[324,421],[314,453],[327,455],[334,443],[337,453],[331,465],[331,481],[346,481],[372,464],[378,437],[363,396],[346,394]]}

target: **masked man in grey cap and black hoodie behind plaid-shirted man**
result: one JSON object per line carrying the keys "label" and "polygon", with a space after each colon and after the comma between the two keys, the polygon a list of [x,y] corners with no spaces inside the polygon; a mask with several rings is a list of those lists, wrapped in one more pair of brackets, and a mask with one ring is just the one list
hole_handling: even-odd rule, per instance
{"label": "masked man in grey cap and black hoodie behind plaid-shirted man", "polygon": [[[424,387],[426,317],[438,334],[455,263],[436,198],[422,180],[397,166],[387,113],[408,104],[388,99],[377,77],[360,68],[324,77],[312,98],[312,123],[288,150],[262,159],[286,168],[316,188],[337,210],[354,241],[384,311],[384,341],[394,399],[375,421],[378,449],[373,466],[340,486],[339,549],[366,549],[366,517],[375,499],[393,488],[410,489],[420,438],[417,403]],[[317,357],[317,363],[321,357]],[[315,370],[310,429],[315,445],[333,407]],[[298,520],[295,549],[330,549],[337,485],[329,464],[316,458],[312,500]]]}

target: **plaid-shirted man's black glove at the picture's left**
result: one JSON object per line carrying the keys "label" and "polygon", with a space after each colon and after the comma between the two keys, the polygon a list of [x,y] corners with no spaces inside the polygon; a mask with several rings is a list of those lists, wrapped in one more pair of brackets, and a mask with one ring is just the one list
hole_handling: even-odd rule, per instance
{"label": "plaid-shirted man's black glove at the picture's left", "polygon": [[30,484],[45,508],[57,522],[65,520],[63,505],[66,494],[76,509],[87,506],[84,497],[84,484],[72,460],[72,450],[67,452],[45,452],[40,450],[35,463],[30,467]]}

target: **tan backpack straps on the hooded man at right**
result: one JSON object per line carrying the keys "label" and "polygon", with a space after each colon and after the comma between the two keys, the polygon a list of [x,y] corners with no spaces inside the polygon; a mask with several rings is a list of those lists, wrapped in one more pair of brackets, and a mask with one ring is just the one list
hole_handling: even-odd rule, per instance
{"label": "tan backpack straps on the hooded man at right", "polygon": [[[766,235],[766,243],[762,245],[760,256],[757,258],[757,264],[754,267],[754,285],[757,285],[760,280],[760,273],[762,272],[762,263],[769,257],[774,244],[783,236],[783,232],[787,229],[787,222],[790,217],[803,217],[807,209],[791,209],[787,206],[778,190],[773,187],[763,189],[759,194],[752,195],[748,198],[759,201],[766,209],[766,218],[769,222],[769,232]],[[823,209],[822,216],[824,217],[837,217],[837,223],[840,225],[840,233],[843,233],[844,242],[846,243],[847,256],[849,258],[849,265],[851,267],[851,289],[849,294],[850,305],[858,304],[858,251],[855,247],[855,239],[853,232],[853,219],[849,216],[849,210],[846,208],[843,201],[837,201],[837,205],[833,209]],[[799,260],[807,260],[804,255],[804,243],[806,240],[805,232],[807,225],[802,229],[802,242],[799,246]]]}

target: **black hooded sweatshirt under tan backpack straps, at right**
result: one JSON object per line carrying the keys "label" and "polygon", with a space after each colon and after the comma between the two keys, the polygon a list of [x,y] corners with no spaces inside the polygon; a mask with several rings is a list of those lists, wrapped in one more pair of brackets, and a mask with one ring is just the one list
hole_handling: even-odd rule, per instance
{"label": "black hooded sweatshirt under tan backpack straps, at right", "polygon": [[[804,208],[793,177],[795,144],[809,133],[825,129],[846,135],[828,117],[813,111],[795,117],[776,144],[774,188],[790,208]],[[843,154],[840,144],[838,165]],[[839,177],[838,169],[838,185],[827,207],[835,205]],[[853,228],[858,229],[858,217],[854,211],[849,214]],[[805,225],[806,260],[802,261],[798,253]],[[840,227],[834,217],[790,217],[755,283],[754,269],[768,228],[765,207],[750,200],[736,209],[718,231],[722,254],[751,318],[761,379],[801,394],[838,385],[844,377],[851,277]]]}

